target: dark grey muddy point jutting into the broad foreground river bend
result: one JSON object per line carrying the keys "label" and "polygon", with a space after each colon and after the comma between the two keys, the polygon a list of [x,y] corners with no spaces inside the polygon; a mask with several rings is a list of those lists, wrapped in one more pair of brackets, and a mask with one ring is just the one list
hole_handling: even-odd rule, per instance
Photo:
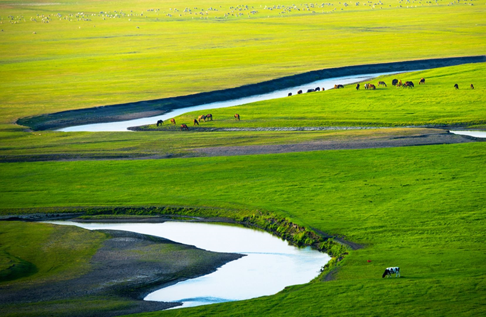
{"label": "dark grey muddy point jutting into the broad foreground river bend", "polygon": [[29,311],[39,302],[83,297],[113,297],[126,300],[125,309],[80,311],[73,316],[118,316],[157,311],[179,305],[142,300],[148,293],[178,281],[214,272],[243,257],[242,254],[211,252],[147,234],[121,230],[99,230],[108,235],[90,260],[91,270],[80,277],[61,281],[7,283],[0,286],[4,307]]}

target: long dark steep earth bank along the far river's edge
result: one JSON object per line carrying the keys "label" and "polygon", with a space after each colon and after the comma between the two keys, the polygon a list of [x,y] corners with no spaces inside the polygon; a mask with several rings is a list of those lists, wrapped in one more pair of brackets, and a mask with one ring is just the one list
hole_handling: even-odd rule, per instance
{"label": "long dark steep earth bank along the far river's edge", "polygon": [[28,126],[34,130],[47,130],[73,125],[139,119],[160,115],[172,109],[259,95],[326,78],[359,75],[365,73],[431,69],[481,62],[486,62],[485,55],[433,58],[312,70],[302,74],[281,77],[236,88],[201,92],[186,96],[61,111],[51,114],[20,118],[16,123],[19,125]]}

